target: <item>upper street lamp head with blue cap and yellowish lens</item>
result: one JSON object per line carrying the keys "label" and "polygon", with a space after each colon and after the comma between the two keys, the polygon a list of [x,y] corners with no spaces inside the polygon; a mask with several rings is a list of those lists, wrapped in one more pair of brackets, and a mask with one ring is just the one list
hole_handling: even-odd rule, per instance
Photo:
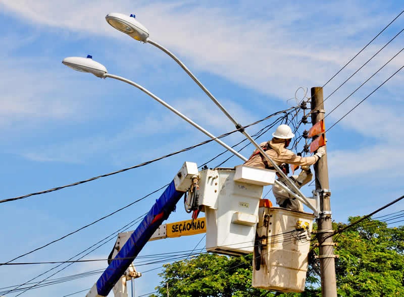
{"label": "upper street lamp head with blue cap and yellowish lens", "polygon": [[146,42],[149,36],[148,30],[135,19],[135,15],[130,16],[120,13],[110,13],[105,19],[115,29],[128,34],[130,37]]}

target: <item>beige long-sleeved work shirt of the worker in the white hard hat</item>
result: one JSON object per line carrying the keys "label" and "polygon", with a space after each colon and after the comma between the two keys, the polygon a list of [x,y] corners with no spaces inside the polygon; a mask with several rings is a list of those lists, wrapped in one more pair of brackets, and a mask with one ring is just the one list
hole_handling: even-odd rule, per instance
{"label": "beige long-sleeved work shirt of the worker in the white hard hat", "polygon": [[[310,157],[300,157],[297,156],[295,153],[293,153],[291,150],[288,150],[285,148],[285,142],[277,143],[279,142],[272,139],[269,141],[269,146],[271,149],[267,150],[266,153],[267,155],[277,164],[281,165],[283,163],[287,164],[293,164],[293,165],[299,165],[299,166],[310,166],[316,163],[319,159],[318,156],[310,156]],[[265,147],[267,142],[263,142],[260,144],[261,147]],[[257,150],[254,151],[254,153],[257,152]],[[265,168],[265,164],[262,161],[261,155],[258,153],[254,155],[252,153],[252,157],[250,157],[244,165],[247,166],[252,166],[252,167],[257,167],[257,168]],[[268,165],[271,166],[271,162],[268,161]]]}

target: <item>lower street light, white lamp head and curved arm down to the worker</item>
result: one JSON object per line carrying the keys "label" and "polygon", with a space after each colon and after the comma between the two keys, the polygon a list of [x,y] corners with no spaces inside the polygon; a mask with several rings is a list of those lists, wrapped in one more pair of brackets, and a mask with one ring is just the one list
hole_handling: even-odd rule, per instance
{"label": "lower street light, white lamp head and curved arm down to the worker", "polygon": [[217,143],[219,143],[220,145],[225,147],[227,150],[229,150],[230,152],[235,154],[237,157],[239,157],[243,161],[247,160],[247,158],[244,157],[243,155],[241,155],[239,152],[237,152],[233,148],[229,147],[227,144],[225,144],[219,138],[215,137],[209,131],[207,131],[204,128],[200,127],[198,124],[193,122],[189,117],[187,117],[184,114],[182,114],[181,112],[179,112],[177,109],[172,107],[170,104],[168,104],[167,102],[165,102],[164,100],[162,100],[161,98],[156,96],[155,94],[151,93],[146,88],[144,88],[141,85],[136,84],[135,82],[132,82],[132,81],[126,79],[126,78],[123,78],[123,77],[120,77],[120,76],[117,76],[117,75],[113,75],[113,74],[109,74],[108,71],[107,71],[107,68],[104,65],[92,60],[92,56],[87,55],[86,58],[84,58],[84,57],[76,57],[76,56],[67,57],[67,58],[63,59],[62,63],[64,65],[66,65],[66,66],[68,66],[68,67],[70,67],[70,68],[72,68],[74,70],[80,71],[80,72],[92,73],[93,75],[95,75],[96,77],[99,77],[99,78],[107,78],[107,77],[113,78],[113,79],[120,80],[122,82],[128,83],[128,84],[138,88],[139,90],[143,91],[144,93],[149,95],[151,98],[155,99],[157,102],[161,103],[162,105],[164,105],[165,107],[170,109],[172,112],[174,112],[175,114],[177,114],[178,116],[183,118],[186,122],[191,124],[193,127],[195,127],[196,129],[198,129],[199,131],[201,131],[202,133],[209,136],[214,141],[216,141]]}

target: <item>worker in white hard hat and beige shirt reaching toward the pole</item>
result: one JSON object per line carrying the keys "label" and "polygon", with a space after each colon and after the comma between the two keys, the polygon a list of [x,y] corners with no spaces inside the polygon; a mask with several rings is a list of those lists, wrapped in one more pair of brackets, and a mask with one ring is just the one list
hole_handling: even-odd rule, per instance
{"label": "worker in white hard hat and beige shirt reaching toward the pole", "polygon": [[[325,149],[323,147],[320,147],[314,156],[309,157],[300,157],[291,150],[288,150],[287,147],[294,137],[294,134],[292,133],[292,129],[290,129],[290,127],[287,125],[280,125],[272,136],[273,138],[270,141],[261,143],[260,147],[278,166],[283,163],[299,166],[310,166],[316,163],[325,154]],[[258,149],[252,153],[244,165],[258,168],[275,169]]]}

